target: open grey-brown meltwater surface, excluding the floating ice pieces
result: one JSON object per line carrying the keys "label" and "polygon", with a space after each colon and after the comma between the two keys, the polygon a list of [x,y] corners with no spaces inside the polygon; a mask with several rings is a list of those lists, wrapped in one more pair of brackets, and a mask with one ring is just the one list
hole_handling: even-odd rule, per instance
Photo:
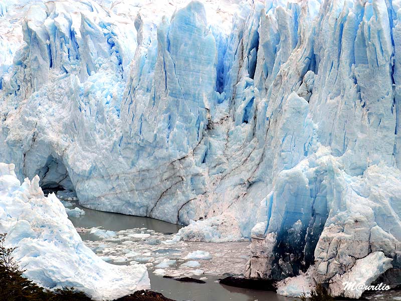
{"label": "open grey-brown meltwater surface, excluding the floating ice pieces", "polygon": [[[91,209],[86,209],[74,204],[85,210],[85,215],[79,218],[70,218],[75,227],[79,228],[92,228],[102,227],[106,230],[120,231],[133,228],[147,228],[154,230],[159,233],[169,235],[176,233],[181,226],[170,224],[167,222],[146,218],[146,217],[135,217],[117,213],[101,212]],[[99,238],[89,233],[80,233],[83,240],[99,240]],[[117,242],[118,243],[118,242]],[[188,242],[190,244],[190,242]],[[206,243],[194,243],[194,244],[206,244]],[[216,245],[222,244],[210,244],[212,248],[216,248]],[[230,246],[230,244],[228,244]],[[163,246],[160,246],[162,248]],[[199,248],[199,245],[195,249]],[[241,258],[232,258],[233,260]],[[242,258],[243,259],[243,258]],[[245,262],[246,260],[244,260]],[[123,263],[116,263],[123,264]],[[231,265],[231,262],[227,262],[227,265]],[[229,268],[229,266],[227,267]],[[262,291],[244,289],[238,287],[232,287],[222,285],[218,283],[218,279],[224,277],[224,275],[192,275],[195,278],[206,277],[206,283],[188,283],[179,282],[174,279],[163,278],[160,275],[153,273],[152,268],[148,268],[149,278],[151,283],[151,290],[161,292],[166,297],[174,300],[196,300],[196,301],[293,301],[295,298],[288,298],[277,295],[273,291]],[[203,278],[204,279],[204,278]]]}

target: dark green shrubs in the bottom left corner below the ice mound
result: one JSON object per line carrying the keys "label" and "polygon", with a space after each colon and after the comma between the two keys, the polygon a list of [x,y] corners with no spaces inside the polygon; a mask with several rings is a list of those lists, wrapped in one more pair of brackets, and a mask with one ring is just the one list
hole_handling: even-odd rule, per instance
{"label": "dark green shrubs in the bottom left corner below the ice mound", "polygon": [[6,234],[0,233],[0,301],[83,301],[90,300],[73,287],[46,290],[22,274],[25,272],[12,256],[16,250],[5,247]]}

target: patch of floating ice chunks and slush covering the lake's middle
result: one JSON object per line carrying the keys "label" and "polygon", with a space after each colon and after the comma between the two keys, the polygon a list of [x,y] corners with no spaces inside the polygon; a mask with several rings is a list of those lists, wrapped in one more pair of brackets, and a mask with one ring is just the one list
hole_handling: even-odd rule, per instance
{"label": "patch of floating ice chunks and slush covering the lake's middle", "polygon": [[[86,216],[83,217],[86,219]],[[77,220],[75,220],[77,221]],[[87,235],[93,229],[78,228],[84,243],[107,262],[135,264],[144,263],[149,272],[173,277],[193,276],[202,270],[209,275],[226,273],[241,275],[250,258],[250,242],[209,243],[201,241],[173,240],[174,234],[165,234],[143,228],[113,232],[112,237]],[[141,238],[137,234],[150,233]],[[189,259],[189,257],[202,258]],[[230,262],[230,265],[227,264]],[[158,266],[161,264],[161,267]],[[202,272],[202,273],[203,273]]]}

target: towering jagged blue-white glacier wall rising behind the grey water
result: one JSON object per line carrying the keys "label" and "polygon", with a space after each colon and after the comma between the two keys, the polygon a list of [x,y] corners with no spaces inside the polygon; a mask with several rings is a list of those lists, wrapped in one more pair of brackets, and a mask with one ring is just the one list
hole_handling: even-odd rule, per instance
{"label": "towering jagged blue-white glacier wall rising behind the grey water", "polygon": [[346,297],[361,269],[399,277],[401,1],[0,9],[0,162],[20,181],[188,225],[174,239],[251,239],[246,276],[282,294],[300,272]]}

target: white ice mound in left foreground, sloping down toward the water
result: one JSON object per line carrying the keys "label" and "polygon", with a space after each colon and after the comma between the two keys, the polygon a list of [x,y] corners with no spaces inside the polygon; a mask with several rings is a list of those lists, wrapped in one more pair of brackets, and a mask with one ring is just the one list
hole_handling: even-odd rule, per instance
{"label": "white ice mound in left foreground, sloping down toward the water", "polygon": [[39,177],[23,184],[14,165],[0,163],[0,232],[24,275],[48,288],[75,287],[95,300],[116,299],[149,287],[144,265],[104,262],[84,245],[63,205],[54,194],[45,197]]}

